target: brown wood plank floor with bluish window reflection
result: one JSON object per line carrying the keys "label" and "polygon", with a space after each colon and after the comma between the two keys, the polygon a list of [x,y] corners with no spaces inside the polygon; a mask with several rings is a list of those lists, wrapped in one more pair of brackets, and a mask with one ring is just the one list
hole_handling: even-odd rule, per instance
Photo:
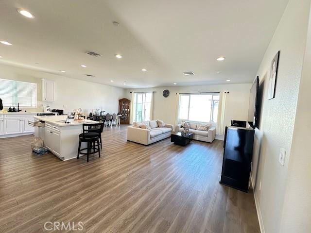
{"label": "brown wood plank floor with bluish window reflection", "polygon": [[0,139],[0,233],[53,232],[48,221],[82,222],[71,232],[84,233],[259,232],[252,191],[218,182],[222,141],[146,147],[113,127],[104,129],[102,157],[86,163],[35,156],[32,139]]}

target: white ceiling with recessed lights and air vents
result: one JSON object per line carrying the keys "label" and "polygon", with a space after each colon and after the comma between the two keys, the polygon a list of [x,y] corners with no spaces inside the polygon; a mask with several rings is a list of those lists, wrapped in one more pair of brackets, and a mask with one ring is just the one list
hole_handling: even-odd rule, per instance
{"label": "white ceiling with recessed lights and air vents", "polygon": [[0,0],[0,63],[122,88],[250,83],[287,2]]}

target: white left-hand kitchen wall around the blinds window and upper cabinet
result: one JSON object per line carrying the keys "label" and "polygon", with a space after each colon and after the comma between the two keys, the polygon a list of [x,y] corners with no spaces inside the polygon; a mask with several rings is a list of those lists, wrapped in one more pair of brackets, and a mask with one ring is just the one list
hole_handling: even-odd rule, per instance
{"label": "white left-hand kitchen wall around the blinds window and upper cabinet", "polygon": [[[117,113],[119,99],[123,97],[122,88],[13,66],[0,65],[0,78],[37,83],[38,107],[37,109],[22,108],[23,111],[27,110],[28,112],[41,112],[42,107],[39,104],[49,104],[52,109],[64,109],[65,114],[78,108],[82,108],[85,114],[88,114],[92,109],[98,107],[109,113]],[[55,81],[54,102],[41,102],[42,78]]]}

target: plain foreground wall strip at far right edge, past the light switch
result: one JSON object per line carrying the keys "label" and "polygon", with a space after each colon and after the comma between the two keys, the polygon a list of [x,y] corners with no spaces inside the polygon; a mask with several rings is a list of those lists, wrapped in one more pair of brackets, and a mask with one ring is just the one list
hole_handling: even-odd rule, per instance
{"label": "plain foreground wall strip at far right edge, past the light switch", "polygon": [[284,197],[282,233],[311,232],[311,19]]}

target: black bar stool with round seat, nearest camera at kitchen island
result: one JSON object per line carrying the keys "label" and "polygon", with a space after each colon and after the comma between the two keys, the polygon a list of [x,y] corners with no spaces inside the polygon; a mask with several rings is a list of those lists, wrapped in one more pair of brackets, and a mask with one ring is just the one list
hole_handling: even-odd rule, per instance
{"label": "black bar stool with round seat, nearest camera at kitchen island", "polygon": [[[78,148],[78,156],[77,159],[79,159],[80,154],[86,154],[86,162],[88,163],[88,156],[90,154],[95,154],[98,152],[99,157],[101,157],[101,152],[99,149],[99,134],[97,132],[89,132],[89,127],[97,127],[100,128],[101,124],[83,124],[83,133],[79,134],[79,148]],[[87,148],[81,149],[81,143],[86,142]],[[97,149],[95,148],[95,142],[97,142]],[[91,152],[91,149],[93,149],[93,152]],[[82,152],[83,150],[86,150],[87,152]]]}

